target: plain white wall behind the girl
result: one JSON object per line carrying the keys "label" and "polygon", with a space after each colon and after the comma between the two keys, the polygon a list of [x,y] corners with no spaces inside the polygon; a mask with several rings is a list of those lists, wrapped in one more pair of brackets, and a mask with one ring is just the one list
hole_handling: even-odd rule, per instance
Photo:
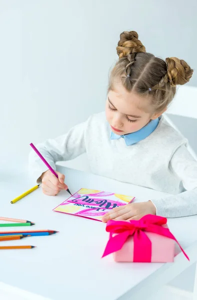
{"label": "plain white wall behind the girl", "polygon": [[[103,110],[124,30],[196,69],[196,11],[196,0],[0,0],[0,163],[27,161],[30,142]],[[189,274],[182,287],[192,287]]]}

